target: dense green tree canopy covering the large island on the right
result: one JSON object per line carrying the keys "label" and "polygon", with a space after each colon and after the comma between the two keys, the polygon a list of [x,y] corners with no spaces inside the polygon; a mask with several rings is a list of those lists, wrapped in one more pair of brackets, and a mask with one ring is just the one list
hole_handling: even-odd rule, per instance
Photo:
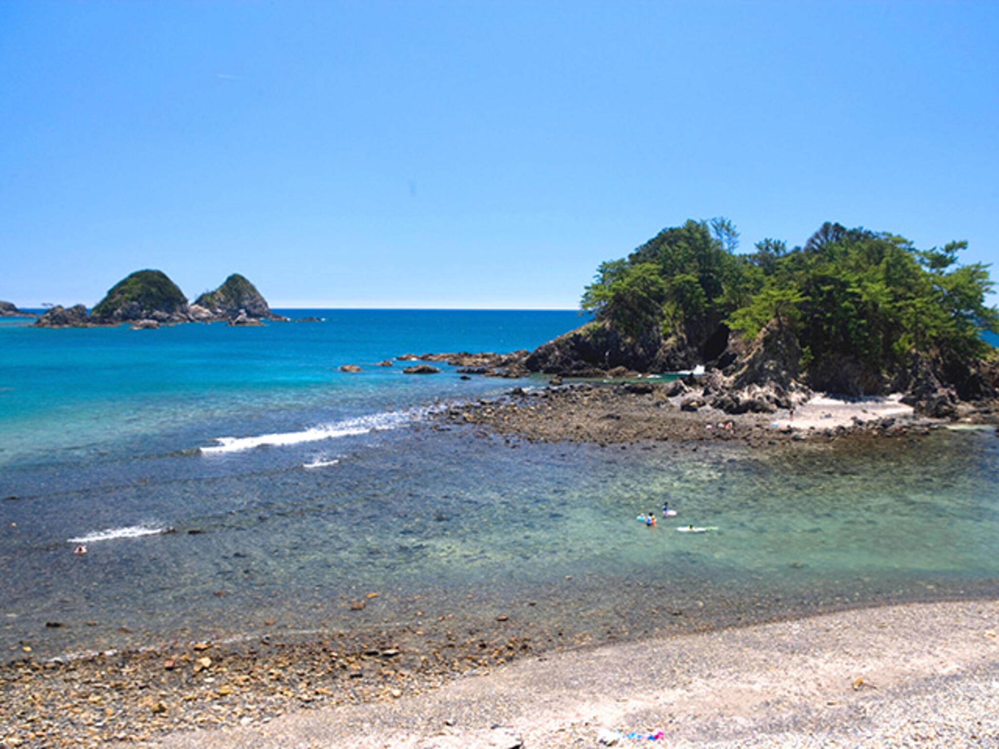
{"label": "dense green tree canopy covering the large island on the right", "polygon": [[988,266],[960,266],[966,243],[917,250],[902,237],[824,224],[788,251],[766,239],[736,255],[725,219],[665,229],[626,259],[603,263],[582,307],[627,336],[722,321],[747,338],[776,319],[797,336],[802,365],[850,358],[879,376],[915,357],[977,359],[999,332],[985,305]]}

